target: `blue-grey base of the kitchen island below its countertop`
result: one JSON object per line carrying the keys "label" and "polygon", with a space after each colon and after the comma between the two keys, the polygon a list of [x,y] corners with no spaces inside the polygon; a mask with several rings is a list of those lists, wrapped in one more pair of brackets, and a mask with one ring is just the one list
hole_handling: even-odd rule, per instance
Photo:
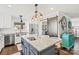
{"label": "blue-grey base of the kitchen island below its countertop", "polygon": [[48,47],[42,51],[38,51],[24,39],[21,40],[22,42],[22,51],[23,55],[55,55],[55,45]]}

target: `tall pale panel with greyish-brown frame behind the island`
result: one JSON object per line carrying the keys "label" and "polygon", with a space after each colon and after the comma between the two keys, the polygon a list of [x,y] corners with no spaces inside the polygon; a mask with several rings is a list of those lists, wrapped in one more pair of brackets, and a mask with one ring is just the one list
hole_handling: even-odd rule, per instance
{"label": "tall pale panel with greyish-brown frame behind the island", "polygon": [[58,35],[57,20],[58,17],[52,17],[47,19],[49,35]]}

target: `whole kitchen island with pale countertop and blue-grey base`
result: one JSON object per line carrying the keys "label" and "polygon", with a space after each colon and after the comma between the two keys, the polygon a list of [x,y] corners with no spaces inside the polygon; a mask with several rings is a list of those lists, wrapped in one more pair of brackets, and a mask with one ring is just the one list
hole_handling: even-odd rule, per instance
{"label": "whole kitchen island with pale countertop and blue-grey base", "polygon": [[[30,40],[32,38],[32,40]],[[21,37],[23,55],[55,55],[55,43],[58,39],[34,37],[28,38],[26,35]]]}

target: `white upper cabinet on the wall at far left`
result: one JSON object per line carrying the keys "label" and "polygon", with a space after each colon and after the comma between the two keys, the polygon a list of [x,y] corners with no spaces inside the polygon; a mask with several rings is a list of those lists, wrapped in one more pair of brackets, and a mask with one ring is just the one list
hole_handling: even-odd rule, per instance
{"label": "white upper cabinet on the wall at far left", "polygon": [[0,15],[0,28],[10,28],[12,26],[11,23],[11,16]]}

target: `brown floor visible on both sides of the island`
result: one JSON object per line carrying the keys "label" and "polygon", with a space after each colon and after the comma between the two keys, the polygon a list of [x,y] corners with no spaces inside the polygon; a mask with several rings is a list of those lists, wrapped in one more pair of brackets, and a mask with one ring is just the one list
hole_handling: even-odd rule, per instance
{"label": "brown floor visible on both sides of the island", "polygon": [[[12,45],[12,46],[8,46],[2,49],[1,51],[1,55],[11,55],[11,54],[16,54],[18,51],[20,51],[17,47],[18,45]],[[72,53],[66,51],[66,50],[62,50],[59,49],[60,54],[59,55],[79,55],[79,39],[75,40],[75,46],[74,49],[72,50]]]}

